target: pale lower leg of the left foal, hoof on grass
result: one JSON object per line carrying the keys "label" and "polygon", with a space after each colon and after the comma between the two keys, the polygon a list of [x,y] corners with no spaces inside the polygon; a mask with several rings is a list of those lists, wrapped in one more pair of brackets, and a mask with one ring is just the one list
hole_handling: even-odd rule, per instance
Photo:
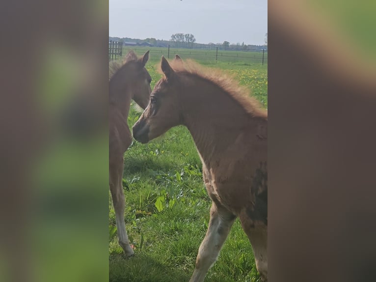
{"label": "pale lower leg of the left foal, hoof on grass", "polygon": [[126,256],[134,255],[134,251],[129,243],[128,234],[125,229],[124,222],[124,210],[125,210],[125,198],[123,192],[123,157],[118,158],[116,162],[110,164],[109,169],[109,188],[112,196],[112,203],[115,209],[117,237],[119,245],[123,248]]}

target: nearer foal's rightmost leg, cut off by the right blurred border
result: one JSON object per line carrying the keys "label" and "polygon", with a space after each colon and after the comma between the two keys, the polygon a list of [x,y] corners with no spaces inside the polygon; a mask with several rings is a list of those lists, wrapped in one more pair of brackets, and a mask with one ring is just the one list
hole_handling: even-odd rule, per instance
{"label": "nearer foal's rightmost leg, cut off by the right blurred border", "polygon": [[260,273],[261,281],[268,282],[268,226],[253,221],[245,214],[240,216],[240,221],[252,245],[256,268]]}

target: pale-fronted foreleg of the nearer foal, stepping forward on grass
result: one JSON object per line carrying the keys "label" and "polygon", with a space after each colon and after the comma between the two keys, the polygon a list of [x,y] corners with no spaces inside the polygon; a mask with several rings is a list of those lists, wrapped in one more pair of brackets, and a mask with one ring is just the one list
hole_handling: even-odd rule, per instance
{"label": "pale-fronted foreleg of the nearer foal, stepping forward on grass", "polygon": [[210,222],[205,238],[198,250],[196,267],[189,282],[203,282],[205,276],[218,258],[224,241],[230,232],[236,216],[215,202],[210,209]]}

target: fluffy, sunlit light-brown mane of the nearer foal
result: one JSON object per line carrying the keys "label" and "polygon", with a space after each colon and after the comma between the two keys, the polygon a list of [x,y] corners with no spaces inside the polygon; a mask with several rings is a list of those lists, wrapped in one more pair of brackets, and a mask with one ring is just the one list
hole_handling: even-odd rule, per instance
{"label": "fluffy, sunlit light-brown mane of the nearer foal", "polygon": [[[233,75],[220,69],[203,67],[188,59],[175,59],[169,62],[171,68],[177,73],[186,73],[207,80],[218,85],[225,93],[235,100],[250,115],[268,118],[267,110],[261,107],[259,101],[250,96],[250,90],[239,84]],[[162,73],[160,69],[160,73]]]}

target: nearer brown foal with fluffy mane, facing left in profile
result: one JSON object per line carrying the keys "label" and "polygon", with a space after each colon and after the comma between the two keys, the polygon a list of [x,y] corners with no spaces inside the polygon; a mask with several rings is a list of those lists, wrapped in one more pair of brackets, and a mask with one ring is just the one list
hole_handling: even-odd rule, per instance
{"label": "nearer brown foal with fluffy mane, facing left in profile", "polygon": [[190,282],[204,281],[237,217],[268,281],[267,111],[218,70],[202,71],[178,56],[171,65],[162,56],[161,70],[133,135],[146,143],[185,125],[196,144],[212,208]]}

